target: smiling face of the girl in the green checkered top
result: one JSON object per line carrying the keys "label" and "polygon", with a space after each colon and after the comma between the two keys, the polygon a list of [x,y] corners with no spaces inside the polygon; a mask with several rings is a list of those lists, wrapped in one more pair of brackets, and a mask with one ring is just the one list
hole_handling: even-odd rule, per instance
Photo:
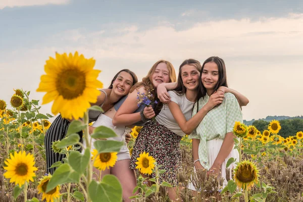
{"label": "smiling face of the girl in the green checkered top", "polygon": [[219,69],[215,62],[209,62],[204,65],[201,80],[208,93],[212,93],[219,80]]}

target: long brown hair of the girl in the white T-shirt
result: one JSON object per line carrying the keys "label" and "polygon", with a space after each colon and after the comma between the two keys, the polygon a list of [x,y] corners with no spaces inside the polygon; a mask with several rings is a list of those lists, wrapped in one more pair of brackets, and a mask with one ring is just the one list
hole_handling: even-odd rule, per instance
{"label": "long brown hair of the girl in the white T-shirt", "polygon": [[182,81],[182,67],[184,65],[191,65],[194,66],[199,72],[201,71],[201,64],[199,61],[195,60],[195,59],[187,59],[184,60],[183,63],[180,65],[179,67],[179,74],[178,74],[178,80],[177,80],[177,87],[174,89],[174,91],[178,94],[178,95],[183,95],[186,92],[186,88],[183,85],[183,81]]}

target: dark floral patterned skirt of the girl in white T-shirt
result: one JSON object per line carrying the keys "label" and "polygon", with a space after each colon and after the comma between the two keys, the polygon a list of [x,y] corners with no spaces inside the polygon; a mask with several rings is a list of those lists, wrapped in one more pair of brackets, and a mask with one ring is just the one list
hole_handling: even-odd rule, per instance
{"label": "dark floral patterned skirt of the girl in white T-shirt", "polygon": [[[137,158],[144,151],[153,156],[158,165],[162,165],[160,169],[165,169],[166,172],[160,174],[159,182],[163,181],[170,183],[172,186],[178,186],[177,172],[181,169],[181,136],[167,129],[164,125],[157,121],[149,121],[140,130],[136,138],[135,145],[130,160],[130,168],[137,170]],[[151,177],[156,174],[152,173]]]}

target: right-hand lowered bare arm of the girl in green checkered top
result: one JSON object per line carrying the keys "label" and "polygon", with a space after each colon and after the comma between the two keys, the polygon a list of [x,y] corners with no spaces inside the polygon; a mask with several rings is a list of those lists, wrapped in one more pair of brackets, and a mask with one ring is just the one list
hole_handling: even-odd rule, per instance
{"label": "right-hand lowered bare arm of the girl in green checkered top", "polygon": [[[233,138],[236,138],[236,136],[232,132],[226,133],[226,136],[223,140],[223,143],[221,145],[219,154],[211,167],[209,173],[219,173],[222,163],[225,161],[225,159],[230,154],[231,150],[234,147],[234,140]],[[213,172],[212,172],[213,170]]]}

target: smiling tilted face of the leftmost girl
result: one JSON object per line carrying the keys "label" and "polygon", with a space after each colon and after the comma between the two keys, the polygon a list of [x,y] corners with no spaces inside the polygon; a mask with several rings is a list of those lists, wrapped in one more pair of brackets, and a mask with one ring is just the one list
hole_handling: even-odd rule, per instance
{"label": "smiling tilted face of the leftmost girl", "polygon": [[116,80],[113,82],[113,90],[117,95],[123,96],[128,94],[132,84],[132,76],[129,73],[123,71],[119,73]]}

